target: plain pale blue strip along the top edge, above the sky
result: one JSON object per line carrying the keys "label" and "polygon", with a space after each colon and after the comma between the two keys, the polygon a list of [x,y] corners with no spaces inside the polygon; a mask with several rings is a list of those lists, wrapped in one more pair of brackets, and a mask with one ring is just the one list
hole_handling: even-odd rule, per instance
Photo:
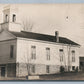
{"label": "plain pale blue strip along the top edge, above the sky", "polygon": [[84,0],[0,0],[0,3],[84,3]]}

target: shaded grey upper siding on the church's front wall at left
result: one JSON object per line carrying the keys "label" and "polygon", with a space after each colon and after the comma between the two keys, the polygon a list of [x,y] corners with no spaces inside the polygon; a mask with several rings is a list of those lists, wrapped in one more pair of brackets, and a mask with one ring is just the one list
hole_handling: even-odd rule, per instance
{"label": "shaded grey upper siding on the church's front wall at left", "polygon": [[[14,45],[13,58],[10,58],[10,46]],[[16,40],[0,42],[0,64],[16,62]]]}

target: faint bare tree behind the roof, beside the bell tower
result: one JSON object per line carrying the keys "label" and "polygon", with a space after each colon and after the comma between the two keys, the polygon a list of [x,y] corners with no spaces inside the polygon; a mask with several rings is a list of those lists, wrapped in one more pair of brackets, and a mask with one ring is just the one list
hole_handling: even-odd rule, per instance
{"label": "faint bare tree behind the roof, beside the bell tower", "polygon": [[23,18],[21,25],[24,31],[32,31],[34,23],[30,18]]}

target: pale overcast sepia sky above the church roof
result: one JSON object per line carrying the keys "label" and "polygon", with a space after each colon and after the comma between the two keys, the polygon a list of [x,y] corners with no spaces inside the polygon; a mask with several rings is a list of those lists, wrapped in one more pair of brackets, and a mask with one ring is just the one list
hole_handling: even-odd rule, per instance
{"label": "pale overcast sepia sky above the church roof", "polygon": [[[0,7],[3,5],[0,4]],[[84,55],[84,4],[18,4],[20,16],[34,23],[33,32],[67,37],[82,47]]]}

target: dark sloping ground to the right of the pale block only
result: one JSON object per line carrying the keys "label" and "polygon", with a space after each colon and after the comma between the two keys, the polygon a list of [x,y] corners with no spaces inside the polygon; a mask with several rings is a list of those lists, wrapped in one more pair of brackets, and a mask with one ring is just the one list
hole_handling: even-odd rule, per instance
{"label": "dark sloping ground to the right of the pale block only", "polygon": [[84,80],[84,72],[41,76],[40,80]]}

